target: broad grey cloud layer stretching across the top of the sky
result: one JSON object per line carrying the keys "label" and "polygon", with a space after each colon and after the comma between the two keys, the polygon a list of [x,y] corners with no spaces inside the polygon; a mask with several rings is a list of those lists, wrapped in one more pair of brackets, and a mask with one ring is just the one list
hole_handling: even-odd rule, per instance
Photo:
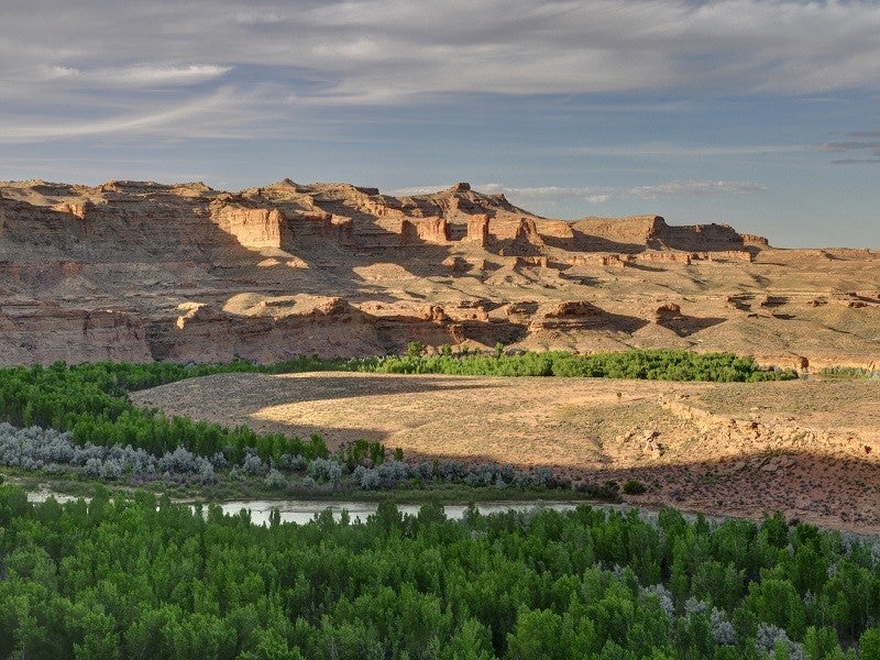
{"label": "broad grey cloud layer stretching across the top of the sky", "polygon": [[[90,96],[96,114],[139,107],[107,90],[205,84],[246,94],[271,82],[295,108],[461,94],[822,95],[880,80],[880,4],[868,1],[41,4],[3,16],[4,96],[34,108]],[[272,73],[254,79],[253,67]]]}

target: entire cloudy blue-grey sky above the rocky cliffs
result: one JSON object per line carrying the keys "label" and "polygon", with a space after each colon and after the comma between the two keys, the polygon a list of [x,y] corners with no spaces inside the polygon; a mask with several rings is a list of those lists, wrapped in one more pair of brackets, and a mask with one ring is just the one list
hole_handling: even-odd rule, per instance
{"label": "entire cloudy blue-grey sky above the rocky cliffs", "polygon": [[880,248],[880,2],[3,0],[0,179],[469,182]]}

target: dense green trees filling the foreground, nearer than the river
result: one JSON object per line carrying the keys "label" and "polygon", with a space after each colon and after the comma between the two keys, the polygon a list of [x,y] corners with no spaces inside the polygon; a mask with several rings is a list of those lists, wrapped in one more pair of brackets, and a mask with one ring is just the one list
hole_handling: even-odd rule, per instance
{"label": "dense green trees filling the foreground, nearer than the river", "polygon": [[0,485],[0,658],[869,659],[877,550],[779,515],[385,504],[256,527]]}

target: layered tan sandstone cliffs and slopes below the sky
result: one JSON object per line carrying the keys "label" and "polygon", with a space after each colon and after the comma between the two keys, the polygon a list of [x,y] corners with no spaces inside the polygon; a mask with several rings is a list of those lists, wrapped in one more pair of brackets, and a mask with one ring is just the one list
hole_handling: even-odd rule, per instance
{"label": "layered tan sandstone cliffs and slopes below the sky", "polygon": [[419,340],[865,365],[880,353],[878,274],[867,251],[780,251],[659,216],[551,220],[468,184],[400,198],[289,179],[0,184],[2,364],[275,361]]}

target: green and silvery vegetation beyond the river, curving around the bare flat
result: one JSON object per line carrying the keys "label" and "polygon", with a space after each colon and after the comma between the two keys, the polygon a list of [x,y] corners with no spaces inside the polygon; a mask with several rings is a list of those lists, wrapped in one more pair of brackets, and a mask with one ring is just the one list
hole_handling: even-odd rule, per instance
{"label": "green and silvery vegetation beyond the river, curving around the bare flat", "polygon": [[[133,406],[128,393],[187,377],[230,372],[295,373],[350,371],[394,374],[509,376],[593,376],[685,381],[780,380],[793,372],[761,370],[730,354],[686,351],[632,351],[579,356],[562,352],[505,355],[426,356],[414,342],[403,356],[294,361],[257,365],[234,362],[186,366],[170,363],[95,363],[0,370],[0,464],[24,472],[84,475],[105,482],[164,483],[211,490],[213,496],[327,496],[340,491],[487,488],[494,498],[519,491],[572,493],[569,480],[549,468],[515,470],[496,463],[433,461],[410,464],[378,442],[356,441],[330,455],[318,435],[308,440],[283,433],[256,433],[245,426],[167,417]],[[230,488],[230,486],[232,486]],[[256,486],[256,487],[254,487]],[[582,496],[619,498],[617,484],[578,484]],[[182,493],[184,494],[184,493]],[[504,493],[505,496],[514,496]]]}

